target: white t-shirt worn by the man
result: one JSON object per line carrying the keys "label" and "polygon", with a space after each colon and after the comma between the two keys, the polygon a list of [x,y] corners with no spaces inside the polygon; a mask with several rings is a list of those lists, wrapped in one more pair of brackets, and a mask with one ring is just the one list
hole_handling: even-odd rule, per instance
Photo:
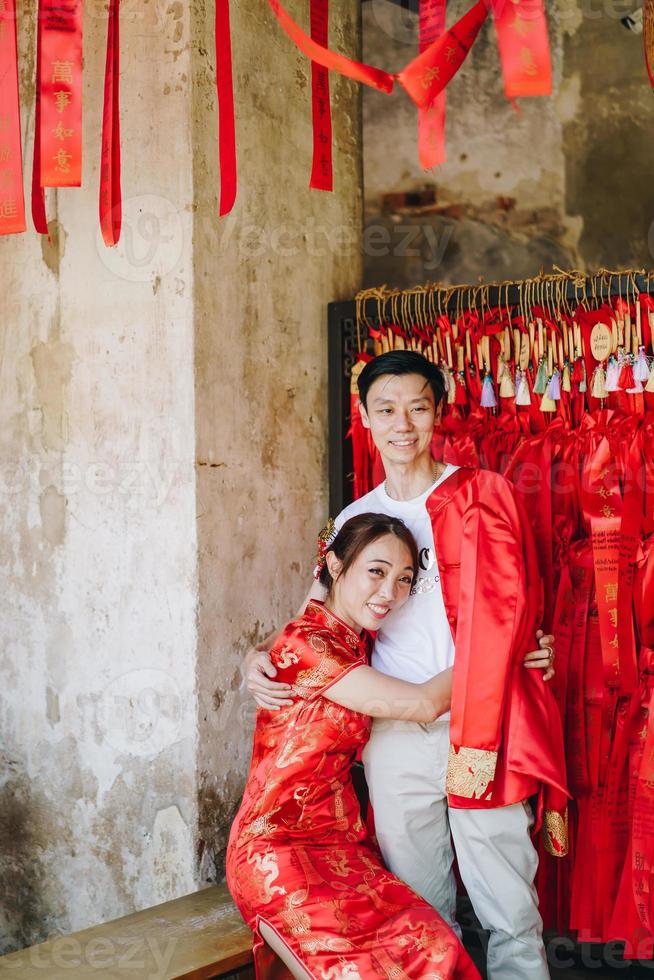
{"label": "white t-shirt worn by the man", "polygon": [[416,539],[420,555],[418,578],[405,604],[384,620],[371,662],[384,674],[418,684],[454,663],[454,641],[445,613],[434,535],[425,504],[434,488],[457,468],[446,466],[438,480],[413,500],[393,500],[386,493],[385,484],[380,483],[342,510],[335,520],[336,530],[340,530],[345,521],[357,514],[388,514],[404,521]]}

